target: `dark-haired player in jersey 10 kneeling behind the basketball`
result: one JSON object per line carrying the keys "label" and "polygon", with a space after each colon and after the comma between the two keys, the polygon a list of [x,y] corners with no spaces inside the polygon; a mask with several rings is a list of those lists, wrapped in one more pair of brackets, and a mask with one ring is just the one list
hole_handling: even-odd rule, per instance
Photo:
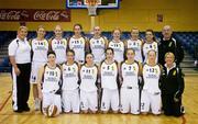
{"label": "dark-haired player in jersey 10 kneeling behind the basketball", "polygon": [[57,114],[62,112],[61,89],[62,89],[62,70],[56,64],[56,54],[47,53],[47,64],[40,68],[37,78],[38,98],[42,100],[42,111],[46,115],[48,105],[57,106]]}

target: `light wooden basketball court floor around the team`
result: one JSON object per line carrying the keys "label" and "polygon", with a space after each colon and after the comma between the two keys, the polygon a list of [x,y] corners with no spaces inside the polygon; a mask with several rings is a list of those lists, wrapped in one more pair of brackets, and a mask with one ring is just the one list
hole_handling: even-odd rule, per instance
{"label": "light wooden basketball court floor around the team", "polygon": [[[198,124],[198,75],[186,77],[183,117],[165,115],[131,115],[131,114],[62,114],[47,119],[33,110],[33,98],[30,98],[31,112],[18,114],[12,112],[11,98],[0,111],[0,124]],[[11,78],[0,74],[0,106],[11,91]]]}

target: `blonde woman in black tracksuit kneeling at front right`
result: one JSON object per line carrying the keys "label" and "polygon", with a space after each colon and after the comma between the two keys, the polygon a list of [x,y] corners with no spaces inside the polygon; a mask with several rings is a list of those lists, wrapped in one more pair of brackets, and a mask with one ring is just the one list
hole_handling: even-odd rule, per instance
{"label": "blonde woman in black tracksuit kneeling at front right", "polygon": [[184,92],[184,75],[174,63],[173,53],[165,54],[164,71],[161,78],[162,102],[165,115],[183,114],[182,94]]}

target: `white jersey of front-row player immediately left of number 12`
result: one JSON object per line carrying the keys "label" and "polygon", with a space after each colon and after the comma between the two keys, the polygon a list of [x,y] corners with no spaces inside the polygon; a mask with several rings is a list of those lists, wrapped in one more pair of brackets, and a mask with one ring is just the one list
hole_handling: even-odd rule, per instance
{"label": "white jersey of front-row player immediately left of number 12", "polygon": [[123,83],[122,87],[135,87],[139,88],[139,64],[127,64],[121,65]]}

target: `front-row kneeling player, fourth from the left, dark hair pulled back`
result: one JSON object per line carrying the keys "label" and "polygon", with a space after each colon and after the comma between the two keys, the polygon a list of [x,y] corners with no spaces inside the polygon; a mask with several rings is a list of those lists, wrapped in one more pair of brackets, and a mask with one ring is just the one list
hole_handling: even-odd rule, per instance
{"label": "front-row kneeling player, fourth from the left, dark hair pulled back", "polygon": [[106,49],[106,59],[100,66],[100,78],[102,88],[101,111],[108,113],[111,109],[113,113],[119,111],[119,82],[118,82],[118,64],[114,60],[112,48]]}

